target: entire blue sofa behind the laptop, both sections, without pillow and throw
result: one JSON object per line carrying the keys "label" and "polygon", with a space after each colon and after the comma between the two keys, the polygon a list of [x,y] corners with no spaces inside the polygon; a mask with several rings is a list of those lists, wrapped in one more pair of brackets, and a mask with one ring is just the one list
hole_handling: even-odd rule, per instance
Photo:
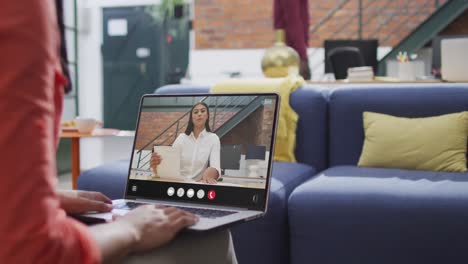
{"label": "entire blue sofa behind the laptop, both sections, without pillow and throw", "polygon": [[[468,111],[468,84],[305,85],[290,103],[298,163],[275,162],[267,215],[232,228],[239,263],[468,263],[467,173],[356,166],[363,111]],[[86,171],[78,188],[120,198],[127,168],[116,161]]]}

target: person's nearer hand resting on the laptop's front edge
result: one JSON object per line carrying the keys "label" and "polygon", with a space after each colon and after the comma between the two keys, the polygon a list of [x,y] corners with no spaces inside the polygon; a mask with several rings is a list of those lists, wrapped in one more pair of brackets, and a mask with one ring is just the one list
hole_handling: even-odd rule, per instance
{"label": "person's nearer hand resting on the laptop's front edge", "polygon": [[174,207],[142,205],[124,216],[117,216],[116,223],[131,229],[135,243],[133,252],[160,247],[171,241],[175,235],[188,226],[195,224],[198,217]]}

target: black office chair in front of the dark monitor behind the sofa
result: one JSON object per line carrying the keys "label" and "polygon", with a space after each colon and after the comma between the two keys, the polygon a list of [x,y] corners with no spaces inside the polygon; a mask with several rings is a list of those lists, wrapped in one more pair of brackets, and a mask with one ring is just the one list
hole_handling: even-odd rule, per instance
{"label": "black office chair in front of the dark monitor behind the sofa", "polygon": [[327,63],[332,68],[336,80],[346,79],[348,68],[365,66],[364,57],[356,47],[337,47],[330,50]]}

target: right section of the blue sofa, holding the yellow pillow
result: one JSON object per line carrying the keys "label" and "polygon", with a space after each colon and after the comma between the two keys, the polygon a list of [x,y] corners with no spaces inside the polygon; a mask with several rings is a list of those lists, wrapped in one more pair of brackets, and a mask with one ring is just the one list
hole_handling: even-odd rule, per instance
{"label": "right section of the blue sofa, holding the yellow pillow", "polygon": [[468,173],[356,166],[364,111],[468,111],[468,84],[348,85],[327,101],[328,168],[289,198],[291,263],[468,263]]}

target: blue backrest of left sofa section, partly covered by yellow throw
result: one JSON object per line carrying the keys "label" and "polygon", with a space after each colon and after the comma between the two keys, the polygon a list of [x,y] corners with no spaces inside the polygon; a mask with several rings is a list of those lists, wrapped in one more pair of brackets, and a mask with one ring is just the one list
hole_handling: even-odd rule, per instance
{"label": "blue backrest of left sofa section, partly covered by yellow throw", "polygon": [[[208,86],[166,85],[157,94],[208,93]],[[327,101],[320,89],[299,87],[290,96],[291,107],[299,115],[296,130],[296,159],[317,171],[327,165]]]}

